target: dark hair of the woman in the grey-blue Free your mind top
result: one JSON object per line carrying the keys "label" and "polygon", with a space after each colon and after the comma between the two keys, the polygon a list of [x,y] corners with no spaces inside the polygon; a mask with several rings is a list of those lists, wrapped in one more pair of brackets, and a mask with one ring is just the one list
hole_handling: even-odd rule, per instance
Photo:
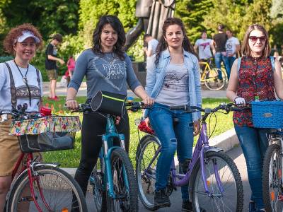
{"label": "dark hair of the woman in the grey-blue Free your mind top", "polygon": [[125,59],[125,56],[124,56],[125,52],[123,50],[123,47],[126,42],[126,35],[125,35],[125,30],[123,28],[123,25],[121,21],[119,20],[119,18],[117,18],[117,16],[105,15],[99,18],[98,24],[96,25],[96,29],[93,32],[93,47],[92,47],[93,52],[98,55],[104,54],[101,51],[100,35],[106,24],[110,24],[111,27],[117,32],[117,35],[118,35],[117,42],[115,43],[113,47],[113,52],[120,59]]}

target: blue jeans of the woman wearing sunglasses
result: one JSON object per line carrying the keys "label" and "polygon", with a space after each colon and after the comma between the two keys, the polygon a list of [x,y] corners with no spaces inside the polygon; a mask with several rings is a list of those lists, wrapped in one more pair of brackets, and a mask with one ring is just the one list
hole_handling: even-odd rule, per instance
{"label": "blue jeans of the woman wearing sunglasses", "polygon": [[265,208],[262,201],[262,163],[268,147],[266,134],[269,129],[237,125],[234,127],[246,158],[248,182],[252,191],[250,200],[255,201],[258,209]]}

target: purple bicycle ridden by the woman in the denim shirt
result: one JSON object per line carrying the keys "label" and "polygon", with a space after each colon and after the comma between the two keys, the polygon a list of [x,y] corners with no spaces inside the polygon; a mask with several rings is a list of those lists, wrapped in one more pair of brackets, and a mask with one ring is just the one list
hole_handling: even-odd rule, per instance
{"label": "purple bicycle ridden by the woman in the denim shirt", "polygon": [[[220,148],[209,146],[206,119],[209,114],[243,110],[233,103],[222,103],[214,109],[190,107],[188,105],[171,107],[171,110],[184,112],[204,112],[202,115],[200,136],[192,154],[192,160],[186,175],[180,174],[171,164],[171,174],[168,177],[167,192],[171,194],[177,187],[189,185],[190,199],[193,211],[243,211],[243,184],[241,175],[233,160]],[[161,151],[160,141],[144,122],[139,124],[139,130],[147,134],[139,139],[136,154],[136,177],[139,187],[139,198],[144,206],[155,211],[154,184],[156,181],[156,163]]]}

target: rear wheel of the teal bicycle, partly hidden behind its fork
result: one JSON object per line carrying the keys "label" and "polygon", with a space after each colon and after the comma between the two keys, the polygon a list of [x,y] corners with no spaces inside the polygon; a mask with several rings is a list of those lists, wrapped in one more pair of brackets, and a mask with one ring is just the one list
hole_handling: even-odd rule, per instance
{"label": "rear wheel of the teal bicycle, partly hidden behind its fork", "polygon": [[93,168],[89,184],[91,185],[91,192],[93,194],[96,211],[107,211],[106,189],[103,188],[103,158],[98,157],[98,161]]}

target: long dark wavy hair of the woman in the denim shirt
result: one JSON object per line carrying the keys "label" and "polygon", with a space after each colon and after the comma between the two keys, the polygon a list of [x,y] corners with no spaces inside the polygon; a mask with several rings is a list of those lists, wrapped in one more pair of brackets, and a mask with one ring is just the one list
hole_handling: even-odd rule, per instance
{"label": "long dark wavy hair of the woman in the denim shirt", "polygon": [[164,38],[164,37],[166,37],[166,30],[167,30],[169,25],[174,25],[174,24],[179,25],[180,28],[183,31],[183,35],[184,35],[183,43],[182,43],[183,49],[185,49],[185,51],[187,51],[187,52],[194,54],[197,57],[197,54],[195,54],[194,48],[192,47],[190,40],[187,37],[187,34],[185,32],[185,26],[183,24],[183,21],[180,20],[180,18],[167,18],[164,21],[164,24],[163,24],[163,27],[162,27],[163,36],[161,37],[161,40],[160,40],[158,47],[156,49],[156,61],[155,61],[156,64],[158,64],[159,57],[161,56],[161,52],[164,51],[168,47],[168,44],[167,44],[167,42]]}

